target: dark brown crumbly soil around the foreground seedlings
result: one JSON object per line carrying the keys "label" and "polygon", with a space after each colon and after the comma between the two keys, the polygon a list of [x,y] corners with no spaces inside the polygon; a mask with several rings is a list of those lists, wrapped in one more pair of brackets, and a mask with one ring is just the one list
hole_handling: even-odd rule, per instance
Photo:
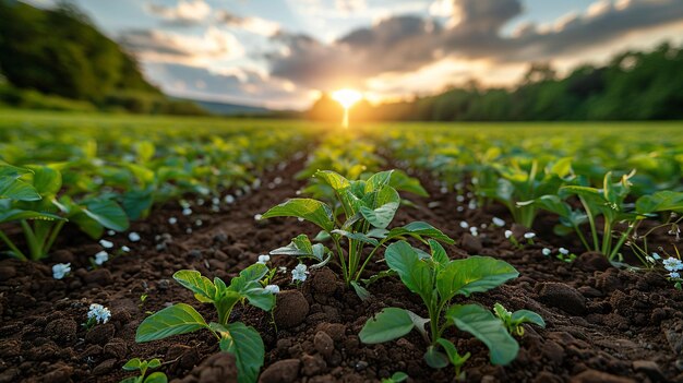
{"label": "dark brown crumbly soil around the foreground seedlings", "polygon": [[[286,246],[296,235],[314,236],[312,225],[293,218],[254,219],[295,196],[303,187],[293,180],[301,167],[301,161],[292,161],[264,175],[260,190],[233,204],[221,201],[219,212],[208,203],[195,203],[189,216],[176,204],[157,210],[133,224],[131,231],[141,240],[133,242],[127,234],[107,237],[117,249],[128,246],[131,251],[99,268],[93,268],[88,259],[101,247],[75,231],[44,263],[0,261],[0,383],[118,382],[132,375],[121,367],[134,357],[163,359],[160,370],[178,382],[236,381],[232,358],[218,352],[209,333],[136,344],[135,330],[149,312],[176,302],[190,303],[215,320],[211,307],[175,283],[175,272],[193,268],[228,280],[256,262],[259,254]],[[512,218],[504,210],[468,210],[467,202],[456,201],[456,193],[442,193],[427,178],[423,184],[432,196],[408,195],[417,207],[403,207],[394,225],[428,222],[456,239],[447,248],[451,258],[496,256],[520,273],[489,294],[457,301],[489,308],[502,302],[508,310],[534,310],[547,322],[546,328],[525,326],[519,355],[507,367],[491,366],[486,347],[468,334],[448,332],[458,350],[472,354],[465,366],[468,382],[683,382],[683,292],[663,276],[618,270],[591,253],[572,264],[543,256],[544,247],[555,253],[559,247],[578,251],[576,243],[553,236],[544,217],[535,228],[535,244],[517,249],[504,238],[505,228],[491,224],[496,216],[510,226]],[[462,220],[478,226],[479,236],[471,237]],[[51,275],[50,267],[58,262],[72,264],[73,272],[62,280]],[[288,270],[296,263],[287,256],[272,261]],[[255,308],[233,312],[235,321],[255,326],[263,336],[262,382],[371,382],[395,371],[408,373],[415,382],[453,381],[452,368],[427,367],[422,360],[427,345],[416,332],[381,345],[359,342],[357,334],[367,319],[385,307],[427,316],[417,296],[399,280],[384,278],[371,285],[372,297],[361,301],[338,280],[336,265],[329,267],[312,272],[300,287],[289,284],[289,273],[278,274],[275,283],[283,292],[273,315]],[[82,323],[91,303],[106,306],[112,315],[108,323],[86,331]]]}

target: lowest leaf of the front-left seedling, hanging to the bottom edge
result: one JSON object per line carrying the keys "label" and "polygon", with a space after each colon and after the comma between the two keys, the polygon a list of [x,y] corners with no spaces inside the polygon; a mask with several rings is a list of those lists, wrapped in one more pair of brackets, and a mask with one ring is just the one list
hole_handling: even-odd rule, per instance
{"label": "lowest leaf of the front-left seedling, hanging to the bottom edge", "polygon": [[255,382],[265,356],[265,347],[259,332],[243,323],[236,322],[227,325],[227,333],[223,336],[220,349],[235,356],[237,381],[239,383]]}

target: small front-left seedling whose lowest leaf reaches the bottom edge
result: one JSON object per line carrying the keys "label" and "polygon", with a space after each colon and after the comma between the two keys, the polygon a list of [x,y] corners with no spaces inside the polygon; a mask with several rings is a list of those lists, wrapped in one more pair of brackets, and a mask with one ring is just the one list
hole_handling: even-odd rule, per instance
{"label": "small front-left seedling whose lowest leaf reaches the bottom edge", "polygon": [[255,263],[226,285],[220,278],[212,282],[196,271],[183,270],[173,274],[180,285],[194,292],[202,303],[212,303],[218,322],[206,323],[189,304],[177,303],[147,316],[137,327],[135,342],[144,343],[169,336],[208,330],[219,342],[220,350],[232,354],[237,360],[238,382],[255,382],[263,366],[264,345],[259,332],[241,322],[229,322],[237,303],[254,306],[271,311],[275,296],[263,288],[261,279],[268,273],[264,264]]}

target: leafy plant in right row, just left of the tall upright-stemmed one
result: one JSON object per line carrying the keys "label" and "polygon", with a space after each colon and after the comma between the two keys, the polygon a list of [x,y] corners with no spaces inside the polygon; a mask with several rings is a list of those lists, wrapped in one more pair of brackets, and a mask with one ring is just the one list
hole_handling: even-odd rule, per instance
{"label": "leafy plant in right row, just left of the tall upright-stemmed one", "polygon": [[518,202],[555,194],[572,178],[571,158],[559,159],[542,171],[539,171],[537,160],[523,166],[519,160],[513,159],[510,166],[496,165],[495,168],[501,177],[495,184],[483,188],[481,192],[505,205],[515,223],[527,228],[534,225],[538,206]]}

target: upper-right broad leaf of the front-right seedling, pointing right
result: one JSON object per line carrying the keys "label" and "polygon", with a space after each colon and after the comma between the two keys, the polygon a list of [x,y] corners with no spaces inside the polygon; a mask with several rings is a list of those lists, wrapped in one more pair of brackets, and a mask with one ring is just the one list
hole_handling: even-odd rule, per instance
{"label": "upper-right broad leaf of the front-right seedling, pointing right", "polygon": [[443,300],[456,294],[469,297],[472,292],[488,291],[518,275],[507,262],[490,256],[470,256],[452,261],[439,273],[436,289]]}

